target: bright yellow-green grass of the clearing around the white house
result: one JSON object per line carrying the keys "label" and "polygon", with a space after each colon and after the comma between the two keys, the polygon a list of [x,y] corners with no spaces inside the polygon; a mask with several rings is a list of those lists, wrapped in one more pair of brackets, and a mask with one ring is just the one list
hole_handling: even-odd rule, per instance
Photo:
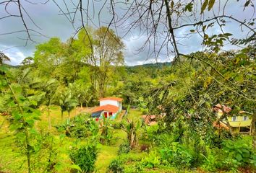
{"label": "bright yellow-green grass of the clearing around the white house", "polygon": [[[62,161],[69,162],[68,151],[74,139],[64,137],[63,141],[59,141],[59,133],[57,132],[54,126],[61,124],[61,111],[59,107],[51,107],[51,129],[48,129],[48,116],[45,109],[40,108],[42,115],[40,121],[36,123],[36,128],[44,131],[48,131],[54,134],[56,139],[56,145],[61,148],[61,159]],[[92,108],[80,108],[77,107],[75,110],[72,110],[70,117],[74,117],[80,112],[91,112]],[[141,112],[139,110],[130,110],[126,118],[129,120],[138,120],[141,117]],[[116,117],[116,121],[121,120],[121,115]],[[67,120],[68,114],[64,112],[64,121]],[[15,143],[15,138],[12,135],[12,132],[9,131],[8,121],[5,120],[6,117],[0,116],[0,172],[9,173],[9,172],[26,172],[26,159],[24,154],[20,154],[20,148],[17,147]],[[114,129],[114,141],[111,143],[111,146],[98,144],[99,152],[98,158],[96,161],[96,172],[106,172],[108,164],[112,159],[116,158],[119,145],[124,142],[126,139],[126,133],[121,129]],[[135,151],[136,152],[136,151]],[[66,170],[59,169],[59,172],[68,172]]]}

